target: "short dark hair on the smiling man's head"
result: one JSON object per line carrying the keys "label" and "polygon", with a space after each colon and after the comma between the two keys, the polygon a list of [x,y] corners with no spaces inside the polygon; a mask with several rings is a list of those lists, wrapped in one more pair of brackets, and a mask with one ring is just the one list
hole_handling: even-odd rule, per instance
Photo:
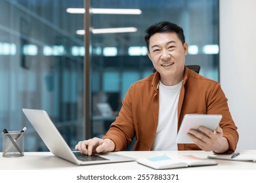
{"label": "short dark hair on the smiling man's head", "polygon": [[[175,33],[177,33],[177,36],[181,40],[182,44],[184,44],[184,42],[185,42],[185,36],[184,36],[182,27],[180,27],[177,24],[173,24],[171,22],[167,22],[167,21],[158,22],[158,23],[148,27],[148,29],[146,29],[145,32],[146,32],[146,35],[144,36],[144,40],[146,42],[147,48],[149,45],[150,37],[152,37],[152,35],[154,35],[155,33],[175,32]],[[148,50],[149,50],[149,48],[148,48]]]}

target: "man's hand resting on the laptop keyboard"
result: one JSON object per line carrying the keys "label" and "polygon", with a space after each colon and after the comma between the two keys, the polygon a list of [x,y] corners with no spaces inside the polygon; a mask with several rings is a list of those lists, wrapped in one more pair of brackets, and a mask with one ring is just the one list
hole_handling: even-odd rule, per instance
{"label": "man's hand resting on the laptop keyboard", "polygon": [[93,138],[80,141],[75,145],[75,150],[91,156],[93,153],[112,152],[115,150],[115,143],[110,139]]}

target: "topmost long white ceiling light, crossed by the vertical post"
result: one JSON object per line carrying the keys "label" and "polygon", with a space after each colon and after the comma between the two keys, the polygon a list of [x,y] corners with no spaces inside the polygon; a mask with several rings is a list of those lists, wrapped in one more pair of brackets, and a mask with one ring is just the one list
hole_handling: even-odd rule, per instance
{"label": "topmost long white ceiling light, crossed by the vertical post", "polygon": [[[85,8],[67,8],[66,12],[72,14],[83,14]],[[141,14],[140,9],[131,8],[90,8],[91,14]]]}

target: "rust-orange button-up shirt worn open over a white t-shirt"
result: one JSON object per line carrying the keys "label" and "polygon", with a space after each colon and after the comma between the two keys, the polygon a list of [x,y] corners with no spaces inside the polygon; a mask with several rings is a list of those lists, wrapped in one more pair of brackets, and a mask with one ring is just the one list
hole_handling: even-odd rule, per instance
{"label": "rust-orange button-up shirt worn open over a white t-shirt", "polygon": [[[125,150],[136,136],[133,150],[151,150],[158,126],[158,72],[131,85],[123,99],[123,106],[103,139],[112,139],[115,151]],[[221,114],[220,127],[228,139],[232,153],[238,142],[237,127],[232,120],[219,82],[198,75],[185,68],[178,105],[178,129],[185,114]],[[168,142],[168,139],[166,139]],[[178,150],[201,150],[196,144],[177,144]]]}

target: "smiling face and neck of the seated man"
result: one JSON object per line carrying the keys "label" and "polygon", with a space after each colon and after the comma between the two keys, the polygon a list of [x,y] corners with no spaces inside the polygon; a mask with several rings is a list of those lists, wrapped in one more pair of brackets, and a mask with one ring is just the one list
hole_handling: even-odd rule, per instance
{"label": "smiling face and neck of the seated man", "polygon": [[182,44],[175,32],[163,32],[150,37],[148,48],[148,57],[160,73],[161,82],[168,86],[181,82],[188,44]]}

